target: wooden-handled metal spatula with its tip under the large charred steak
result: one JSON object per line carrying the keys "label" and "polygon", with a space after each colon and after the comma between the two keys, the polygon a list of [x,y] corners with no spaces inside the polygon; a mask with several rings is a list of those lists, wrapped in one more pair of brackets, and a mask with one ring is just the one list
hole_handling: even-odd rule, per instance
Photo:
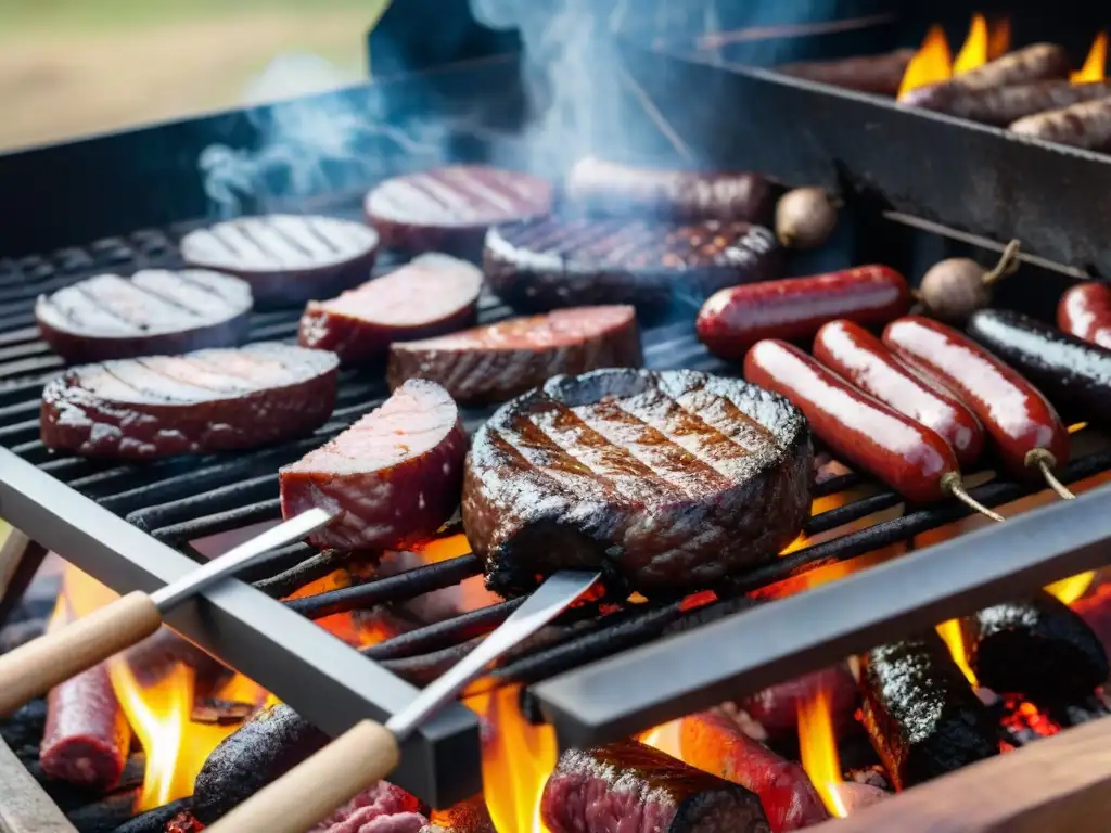
{"label": "wooden-handled metal spatula with its tip under the large charred steak", "polygon": [[598,573],[585,571],[554,573],[498,630],[386,725],[360,721],[209,826],[209,833],[304,833],[319,824],[389,775],[398,765],[406,737],[451,702],[490,662],[559,615],[598,579]]}

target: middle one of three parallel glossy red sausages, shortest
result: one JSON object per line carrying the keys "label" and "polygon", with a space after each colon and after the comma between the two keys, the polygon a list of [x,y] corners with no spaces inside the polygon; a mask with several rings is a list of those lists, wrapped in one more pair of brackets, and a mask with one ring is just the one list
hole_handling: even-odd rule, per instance
{"label": "middle one of three parallel glossy red sausages, shortest", "polygon": [[983,425],[963,402],[907,367],[878,338],[851,321],[831,321],[814,337],[814,358],[881,402],[935,431],[957,462],[983,450]]}

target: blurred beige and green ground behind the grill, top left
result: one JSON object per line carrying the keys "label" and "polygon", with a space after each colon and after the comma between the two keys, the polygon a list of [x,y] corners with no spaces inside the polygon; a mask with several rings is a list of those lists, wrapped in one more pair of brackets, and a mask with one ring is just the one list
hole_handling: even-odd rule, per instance
{"label": "blurred beige and green ground behind the grill, top left", "polygon": [[0,0],[0,150],[236,106],[287,53],[359,79],[388,2]]}

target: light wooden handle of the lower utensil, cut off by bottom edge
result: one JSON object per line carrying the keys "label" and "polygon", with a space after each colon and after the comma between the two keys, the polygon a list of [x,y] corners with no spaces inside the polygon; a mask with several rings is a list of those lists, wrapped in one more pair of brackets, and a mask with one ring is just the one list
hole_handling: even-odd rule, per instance
{"label": "light wooden handle of the lower utensil, cut off by bottom edge", "polygon": [[364,720],[254,793],[208,833],[304,833],[398,765],[393,734]]}

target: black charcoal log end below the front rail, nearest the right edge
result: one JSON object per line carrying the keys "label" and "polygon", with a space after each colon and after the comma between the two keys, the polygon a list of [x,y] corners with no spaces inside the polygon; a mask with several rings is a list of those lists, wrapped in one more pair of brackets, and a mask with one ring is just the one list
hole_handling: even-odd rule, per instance
{"label": "black charcoal log end below the front rail, nearest the right edge", "polygon": [[961,631],[977,680],[999,693],[1071,701],[1108,679],[1108,656],[1092,629],[1044,591],[967,616]]}

